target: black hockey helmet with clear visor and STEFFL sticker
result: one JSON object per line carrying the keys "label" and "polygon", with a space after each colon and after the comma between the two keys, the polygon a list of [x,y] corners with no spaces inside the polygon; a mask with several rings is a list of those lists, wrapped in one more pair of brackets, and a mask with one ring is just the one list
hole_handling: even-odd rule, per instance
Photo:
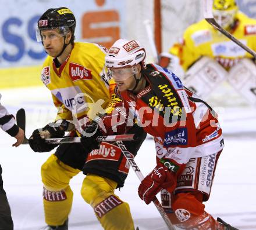
{"label": "black hockey helmet with clear visor and STEFFL sticker", "polygon": [[59,28],[63,34],[67,30],[71,30],[74,37],[74,29],[76,28],[76,18],[72,11],[66,7],[51,8],[42,14],[37,22],[37,41],[41,42],[41,31]]}

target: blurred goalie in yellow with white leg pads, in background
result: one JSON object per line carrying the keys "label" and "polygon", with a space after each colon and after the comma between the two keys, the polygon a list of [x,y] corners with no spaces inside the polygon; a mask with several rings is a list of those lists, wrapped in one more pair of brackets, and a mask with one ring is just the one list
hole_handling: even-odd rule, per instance
{"label": "blurred goalie in yellow with white leg pads, in background", "polygon": [[[256,50],[256,20],[241,13],[235,0],[214,0],[212,12],[222,28],[250,49]],[[175,43],[169,53],[162,54],[159,64],[168,67],[173,56],[179,58],[185,71],[184,85],[198,96],[207,98],[216,86],[227,80],[248,103],[256,105],[253,56],[207,21],[190,25],[183,39]]]}

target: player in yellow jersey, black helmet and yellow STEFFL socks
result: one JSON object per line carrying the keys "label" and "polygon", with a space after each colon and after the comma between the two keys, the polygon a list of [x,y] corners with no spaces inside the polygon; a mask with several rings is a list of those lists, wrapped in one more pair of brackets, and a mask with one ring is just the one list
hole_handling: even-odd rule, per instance
{"label": "player in yellow jersey, black helmet and yellow STEFFL socks", "polygon": [[[29,139],[30,147],[35,152],[48,152],[56,145],[45,143],[44,138],[78,135],[90,126],[96,115],[104,114],[108,105],[120,103],[112,92],[113,83],[104,75],[104,58],[106,48],[94,43],[74,42],[76,19],[70,9],[65,7],[48,9],[38,20],[37,40],[42,42],[48,57],[45,59],[41,80],[51,91],[58,114],[54,123],[42,129],[34,130]],[[132,132],[140,132],[137,127]],[[136,155],[145,138],[141,138],[130,147]],[[93,141],[91,141],[93,143]],[[107,145],[108,143],[101,143]],[[86,162],[87,155],[94,149],[90,141],[86,149],[80,143],[61,144],[41,167],[44,229],[68,229],[68,216],[72,208],[73,192],[69,181],[81,170],[87,174],[81,188],[83,199],[90,204],[104,229],[134,229],[129,205],[114,194],[116,188],[122,187],[129,169],[120,171],[127,165],[122,154],[104,161],[108,167],[102,167],[101,160],[94,158]],[[111,146],[118,151],[118,147]],[[120,160],[119,160],[120,159]],[[117,161],[116,161],[117,160]],[[97,213],[97,206],[105,200],[112,200],[114,205],[108,212]],[[115,202],[113,202],[115,200]]]}

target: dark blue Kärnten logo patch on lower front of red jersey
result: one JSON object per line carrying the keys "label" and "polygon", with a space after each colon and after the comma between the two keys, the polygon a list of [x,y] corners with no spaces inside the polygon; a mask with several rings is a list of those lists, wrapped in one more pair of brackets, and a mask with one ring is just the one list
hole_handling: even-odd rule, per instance
{"label": "dark blue K\u00e4rnten logo patch on lower front of red jersey", "polygon": [[179,128],[165,133],[165,147],[170,145],[187,145],[187,128]]}

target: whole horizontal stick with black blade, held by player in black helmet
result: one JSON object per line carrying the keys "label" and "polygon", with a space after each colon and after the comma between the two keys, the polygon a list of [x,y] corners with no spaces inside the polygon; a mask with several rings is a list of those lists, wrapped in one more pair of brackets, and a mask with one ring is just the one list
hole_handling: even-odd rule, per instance
{"label": "whole horizontal stick with black blade, held by player in black helmet", "polygon": [[[16,114],[17,126],[26,131],[26,113],[23,108],[19,109]],[[98,136],[97,141],[134,141],[137,140],[136,134],[122,134],[122,135],[112,135],[112,136]],[[45,141],[48,144],[63,144],[63,143],[80,143],[81,137],[62,137],[62,138],[46,138]],[[29,144],[29,140],[24,136],[24,141],[22,144]]]}

